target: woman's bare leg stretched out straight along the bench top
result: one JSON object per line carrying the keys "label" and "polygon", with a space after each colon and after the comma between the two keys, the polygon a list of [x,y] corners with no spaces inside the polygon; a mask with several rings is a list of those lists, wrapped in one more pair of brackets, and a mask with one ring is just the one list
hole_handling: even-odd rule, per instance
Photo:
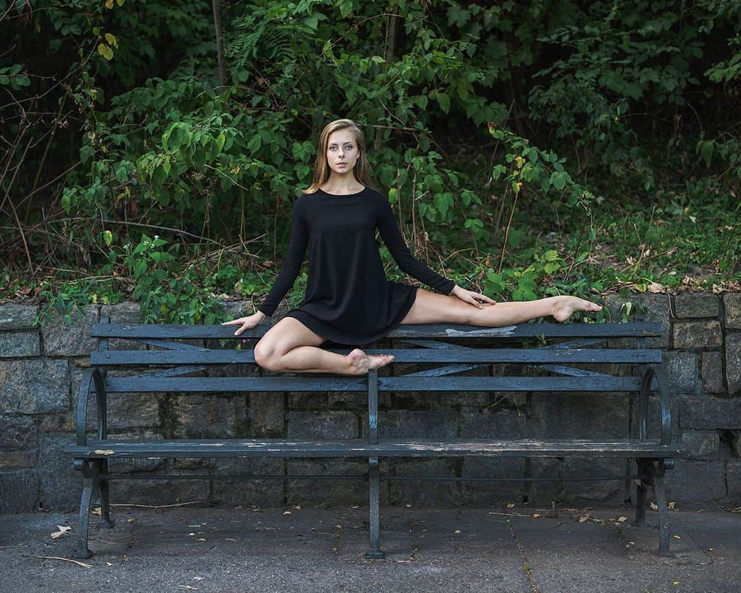
{"label": "woman's bare leg stretched out straight along the bench top", "polygon": [[457,296],[437,294],[417,288],[416,299],[402,323],[463,323],[484,327],[516,325],[551,315],[565,321],[575,311],[599,311],[601,305],[578,296],[548,296],[535,301],[482,303],[482,308],[463,302]]}

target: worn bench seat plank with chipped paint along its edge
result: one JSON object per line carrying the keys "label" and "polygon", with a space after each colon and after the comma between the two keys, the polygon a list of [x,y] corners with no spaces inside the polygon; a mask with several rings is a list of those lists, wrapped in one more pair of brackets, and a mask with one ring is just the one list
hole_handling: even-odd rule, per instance
{"label": "worn bench seat plank with chipped paint along its edge", "polygon": [[64,449],[75,457],[672,457],[679,443],[656,440],[91,440]]}

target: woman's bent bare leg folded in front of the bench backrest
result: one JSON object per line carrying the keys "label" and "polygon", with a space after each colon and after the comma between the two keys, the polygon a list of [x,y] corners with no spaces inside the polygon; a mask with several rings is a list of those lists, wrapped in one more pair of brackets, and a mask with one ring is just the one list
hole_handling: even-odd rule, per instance
{"label": "woman's bent bare leg folded in front of the bench backrest", "polygon": [[347,356],[328,352],[319,348],[324,342],[295,317],[284,317],[256,343],[255,362],[268,371],[362,375],[394,360],[390,354],[368,356],[360,348]]}

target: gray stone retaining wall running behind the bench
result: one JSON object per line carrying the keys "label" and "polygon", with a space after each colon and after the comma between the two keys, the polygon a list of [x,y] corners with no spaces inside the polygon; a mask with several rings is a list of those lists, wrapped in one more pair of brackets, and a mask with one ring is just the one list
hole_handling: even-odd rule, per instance
{"label": "gray stone retaining wall running behind the bench", "polygon": [[[675,395],[674,423],[688,454],[669,472],[669,500],[685,508],[738,504],[741,500],[741,294],[642,294],[605,296],[620,319],[625,301],[631,320],[661,322],[649,342],[665,351]],[[225,302],[237,317],[246,302]],[[277,311],[275,322],[285,312]],[[0,513],[39,508],[71,510],[79,504],[82,477],[62,454],[73,440],[76,393],[89,353],[97,348],[90,328],[100,317],[139,322],[139,304],[90,305],[72,325],[62,319],[33,326],[38,305],[0,305]],[[131,342],[110,348],[130,348]],[[128,345],[127,345],[128,343]],[[252,342],[254,343],[254,342]],[[213,347],[213,345],[208,344]],[[379,348],[393,347],[384,339]],[[218,346],[216,346],[218,347]],[[382,374],[406,372],[392,365]],[[407,368],[404,368],[407,367]],[[609,368],[608,371],[615,371]],[[223,369],[222,369],[223,371]],[[619,372],[619,369],[617,369]],[[232,373],[262,374],[255,365]],[[484,374],[505,374],[491,365]],[[219,371],[210,370],[216,375]],[[482,371],[471,374],[482,374]],[[654,398],[652,398],[653,400]],[[655,403],[655,402],[654,402]],[[381,394],[382,436],[453,438],[559,437],[584,434],[624,437],[628,402],[623,395],[554,397],[542,394]],[[90,410],[95,410],[91,398]],[[655,410],[654,410],[655,412]],[[356,438],[367,431],[362,394],[259,393],[232,395],[122,394],[110,398],[109,434],[135,437]],[[92,412],[91,412],[92,415]],[[92,428],[92,423],[88,428]],[[656,428],[655,426],[653,428]],[[92,434],[92,433],[91,433]],[[117,471],[142,474],[363,474],[358,460],[112,460]],[[391,475],[446,477],[577,476],[620,472],[625,461],[433,459],[382,460]],[[222,505],[282,506],[367,504],[362,480],[118,480],[113,503],[170,504],[190,500]],[[615,504],[631,496],[624,480],[602,482],[382,481],[383,504],[489,506],[503,501],[531,505]]]}

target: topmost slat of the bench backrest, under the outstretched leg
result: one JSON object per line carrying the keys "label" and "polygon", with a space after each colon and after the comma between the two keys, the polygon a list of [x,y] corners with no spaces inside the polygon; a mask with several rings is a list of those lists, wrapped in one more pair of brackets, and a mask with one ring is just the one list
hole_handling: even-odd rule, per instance
{"label": "topmost slat of the bench backrest, under the outstretched leg", "polygon": [[[94,338],[124,339],[249,339],[259,338],[270,329],[258,325],[235,336],[234,325],[171,325],[119,323],[96,323],[93,325]],[[659,323],[522,323],[503,328],[474,327],[464,324],[402,324],[387,334],[387,337],[424,338],[474,338],[474,337],[655,337],[661,335]]]}

